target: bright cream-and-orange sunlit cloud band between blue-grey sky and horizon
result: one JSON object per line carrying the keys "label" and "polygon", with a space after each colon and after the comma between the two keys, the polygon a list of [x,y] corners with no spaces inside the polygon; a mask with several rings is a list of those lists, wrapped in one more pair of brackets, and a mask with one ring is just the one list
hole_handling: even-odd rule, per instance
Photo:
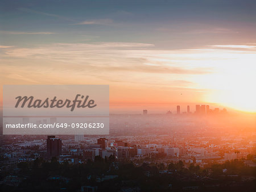
{"label": "bright cream-and-orange sunlit cloud band between blue-grey sky and horizon", "polygon": [[[255,50],[208,47],[168,50],[147,43],[55,43],[3,49],[0,62],[10,82],[110,84],[118,90],[113,99],[126,94],[128,101],[146,91],[151,94],[148,101],[161,94],[165,102],[213,102],[253,111]],[[170,96],[180,92],[182,98]],[[249,97],[240,101],[245,93]]]}

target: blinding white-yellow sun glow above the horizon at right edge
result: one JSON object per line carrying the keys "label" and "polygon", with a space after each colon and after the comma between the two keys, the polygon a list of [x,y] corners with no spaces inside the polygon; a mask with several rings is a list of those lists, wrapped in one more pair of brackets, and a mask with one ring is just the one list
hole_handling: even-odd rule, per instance
{"label": "blinding white-yellow sun glow above the horizon at right edge", "polygon": [[256,112],[256,54],[254,52],[225,52],[218,56],[214,65],[216,73],[209,74],[199,82],[210,94],[205,99],[209,102],[245,112]]}

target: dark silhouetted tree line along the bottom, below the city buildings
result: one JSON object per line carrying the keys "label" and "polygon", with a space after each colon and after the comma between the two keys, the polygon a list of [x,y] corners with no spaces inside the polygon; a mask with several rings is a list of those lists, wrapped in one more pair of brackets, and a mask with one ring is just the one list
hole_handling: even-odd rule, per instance
{"label": "dark silhouetted tree line along the bottom, below the city buildings", "polygon": [[[254,191],[255,180],[242,182],[241,176],[256,177],[256,168],[239,160],[200,168],[195,164],[185,166],[183,161],[171,162],[167,167],[146,163],[136,166],[129,160],[117,161],[113,156],[96,156],[94,161],[82,164],[68,161],[60,164],[53,157],[51,161],[37,158],[34,162],[20,162],[18,168],[16,176],[22,178],[19,185],[2,183],[0,191],[79,191],[81,186],[97,186],[98,191],[119,191],[123,187],[141,191],[182,191],[185,186],[199,186],[201,191],[240,191],[243,187]],[[238,178],[230,180],[230,174]],[[109,175],[118,177],[104,181]],[[233,186],[234,181],[239,186]]]}

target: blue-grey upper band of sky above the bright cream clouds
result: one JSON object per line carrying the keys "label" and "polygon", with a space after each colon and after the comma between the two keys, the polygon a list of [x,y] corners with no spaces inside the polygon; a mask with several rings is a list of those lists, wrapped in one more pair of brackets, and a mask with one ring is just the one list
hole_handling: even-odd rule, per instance
{"label": "blue-grey upper band of sky above the bright cream clouds", "polygon": [[[1,45],[125,41],[176,49],[256,38],[255,1],[1,1]],[[84,24],[82,24],[84,22]]]}

